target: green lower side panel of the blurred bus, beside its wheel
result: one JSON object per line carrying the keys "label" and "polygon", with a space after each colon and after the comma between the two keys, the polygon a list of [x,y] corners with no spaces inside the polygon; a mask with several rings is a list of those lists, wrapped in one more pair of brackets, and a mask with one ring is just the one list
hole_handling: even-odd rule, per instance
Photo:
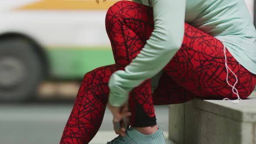
{"label": "green lower side panel of the blurred bus, beside its wheel", "polygon": [[50,74],[58,79],[82,79],[86,72],[114,64],[112,49],[46,49]]}

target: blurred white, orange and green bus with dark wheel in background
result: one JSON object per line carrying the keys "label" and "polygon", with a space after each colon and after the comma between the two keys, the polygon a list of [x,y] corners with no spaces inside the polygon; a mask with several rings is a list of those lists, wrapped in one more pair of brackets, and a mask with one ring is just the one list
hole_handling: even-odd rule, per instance
{"label": "blurred white, orange and green bus with dark wheel in background", "polygon": [[[114,63],[105,13],[118,0],[0,0],[0,101],[32,98],[43,79],[76,80]],[[253,18],[254,0],[245,0]]]}

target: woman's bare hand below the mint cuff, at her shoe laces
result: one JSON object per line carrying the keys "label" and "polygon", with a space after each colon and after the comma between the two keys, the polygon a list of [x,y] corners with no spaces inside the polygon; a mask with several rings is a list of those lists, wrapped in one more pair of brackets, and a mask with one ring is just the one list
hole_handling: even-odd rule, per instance
{"label": "woman's bare hand below the mint cuff, at her shoe laces", "polygon": [[131,116],[131,112],[128,111],[128,104],[125,103],[125,105],[123,105],[122,107],[114,107],[108,103],[108,109],[113,115],[113,125],[115,133],[120,134],[122,137],[124,137],[126,131],[125,121],[127,127],[130,125],[129,117]]}

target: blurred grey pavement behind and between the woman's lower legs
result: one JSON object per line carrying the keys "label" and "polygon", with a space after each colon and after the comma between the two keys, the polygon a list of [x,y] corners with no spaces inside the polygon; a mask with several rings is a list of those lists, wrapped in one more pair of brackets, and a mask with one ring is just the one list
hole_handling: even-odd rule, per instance
{"label": "blurred grey pavement behind and between the woman's lower legs", "polygon": [[[72,104],[0,105],[0,144],[58,144]],[[168,135],[168,106],[157,106],[158,124]],[[105,112],[102,127],[90,144],[105,144],[116,137],[112,115]]]}

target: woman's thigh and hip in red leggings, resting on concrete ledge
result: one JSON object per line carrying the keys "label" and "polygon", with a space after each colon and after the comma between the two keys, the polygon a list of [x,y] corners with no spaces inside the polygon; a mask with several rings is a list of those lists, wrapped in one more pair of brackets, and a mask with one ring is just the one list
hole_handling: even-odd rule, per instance
{"label": "woman's thigh and hip in red leggings, resting on concrete ledge", "polygon": [[[165,66],[164,71],[187,91],[202,98],[237,98],[227,84],[223,44],[185,23],[184,41],[181,49]],[[226,49],[229,71],[228,82],[236,83],[241,98],[247,98],[256,84],[256,77],[245,69]]]}

